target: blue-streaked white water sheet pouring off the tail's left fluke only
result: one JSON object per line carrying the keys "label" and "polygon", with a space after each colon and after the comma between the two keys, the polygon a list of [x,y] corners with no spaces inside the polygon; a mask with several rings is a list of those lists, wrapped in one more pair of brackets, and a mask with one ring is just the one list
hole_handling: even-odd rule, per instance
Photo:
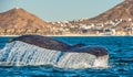
{"label": "blue-streaked white water sheet pouring off the tail's left fluke only", "polygon": [[43,65],[45,63],[53,65],[60,53],[23,42],[12,42],[0,51],[0,61],[10,63],[10,65],[14,63],[16,65]]}

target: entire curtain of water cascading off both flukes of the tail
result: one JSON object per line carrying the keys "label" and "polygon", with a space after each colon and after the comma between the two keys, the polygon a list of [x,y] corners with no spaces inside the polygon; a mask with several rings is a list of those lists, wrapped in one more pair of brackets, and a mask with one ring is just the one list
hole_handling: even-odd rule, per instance
{"label": "entire curtain of water cascading off both flukes of the tail", "polygon": [[[0,65],[52,65],[61,68],[94,67],[98,57],[86,53],[53,51],[16,41],[0,51]],[[104,63],[104,64],[108,64]],[[103,64],[102,64],[103,65]]]}

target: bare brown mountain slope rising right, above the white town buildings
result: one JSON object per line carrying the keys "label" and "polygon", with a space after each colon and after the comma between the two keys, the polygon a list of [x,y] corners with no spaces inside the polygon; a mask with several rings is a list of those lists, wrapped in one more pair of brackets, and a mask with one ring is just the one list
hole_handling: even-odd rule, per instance
{"label": "bare brown mountain slope rising right, above the white town buildings", "polygon": [[[115,6],[114,8],[110,9],[109,11],[84,21],[78,21],[80,23],[99,23],[99,22],[106,22],[110,20],[115,19],[133,19],[133,0],[125,0],[122,3]],[[76,22],[76,23],[78,23]]]}

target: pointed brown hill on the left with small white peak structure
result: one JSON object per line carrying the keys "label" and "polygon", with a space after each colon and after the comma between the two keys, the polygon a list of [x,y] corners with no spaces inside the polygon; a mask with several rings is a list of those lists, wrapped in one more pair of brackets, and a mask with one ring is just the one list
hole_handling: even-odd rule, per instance
{"label": "pointed brown hill on the left with small white peak structure", "polygon": [[23,9],[14,8],[0,13],[0,34],[47,34],[50,23],[42,21]]}

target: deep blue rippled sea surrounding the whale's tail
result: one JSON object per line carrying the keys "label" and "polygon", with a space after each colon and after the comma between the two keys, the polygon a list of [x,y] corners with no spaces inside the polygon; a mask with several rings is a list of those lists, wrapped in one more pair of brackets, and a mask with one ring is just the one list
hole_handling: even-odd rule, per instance
{"label": "deep blue rippled sea surrounding the whale's tail", "polygon": [[[0,48],[8,40],[0,37]],[[0,77],[133,77],[133,36],[84,36],[53,37],[71,45],[103,46],[109,51],[108,68],[58,68],[51,65],[41,66],[0,66]]]}

